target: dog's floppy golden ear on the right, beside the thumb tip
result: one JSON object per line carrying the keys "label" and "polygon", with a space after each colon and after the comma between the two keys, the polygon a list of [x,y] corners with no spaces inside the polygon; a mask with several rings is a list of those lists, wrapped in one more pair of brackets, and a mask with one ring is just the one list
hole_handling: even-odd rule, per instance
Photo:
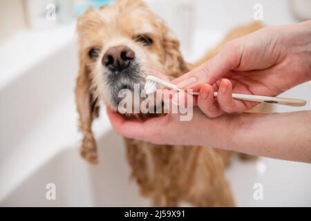
{"label": "dog's floppy golden ear on the right, beside the thumb tip", "polygon": [[188,71],[187,64],[179,50],[179,41],[164,24],[162,25],[162,36],[162,44],[165,52],[165,67],[169,70],[169,75],[179,77],[181,73]]}

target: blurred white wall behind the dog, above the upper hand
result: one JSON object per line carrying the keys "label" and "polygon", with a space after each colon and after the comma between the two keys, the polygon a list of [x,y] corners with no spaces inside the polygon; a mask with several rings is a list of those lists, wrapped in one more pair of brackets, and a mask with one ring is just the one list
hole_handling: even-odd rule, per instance
{"label": "blurred white wall behind the dog, above the upper hand", "polygon": [[[184,56],[189,61],[200,57],[196,53],[200,48],[207,50],[218,39],[236,26],[254,21],[254,5],[263,6],[263,23],[265,25],[282,25],[296,23],[290,0],[146,0],[149,6],[160,15],[176,33],[181,42]],[[203,34],[204,33],[204,34]],[[198,35],[209,35],[204,39]],[[199,49],[200,49],[199,48]]]}

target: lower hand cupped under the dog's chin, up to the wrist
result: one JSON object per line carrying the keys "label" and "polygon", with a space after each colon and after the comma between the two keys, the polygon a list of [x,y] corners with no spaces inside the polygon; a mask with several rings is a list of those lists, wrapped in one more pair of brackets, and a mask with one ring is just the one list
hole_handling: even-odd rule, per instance
{"label": "lower hand cupped under the dog's chin, up to the wrist", "polygon": [[209,119],[198,108],[190,121],[180,121],[180,115],[172,113],[144,120],[125,118],[110,108],[107,114],[118,135],[153,144],[228,148],[236,125],[230,115]]}

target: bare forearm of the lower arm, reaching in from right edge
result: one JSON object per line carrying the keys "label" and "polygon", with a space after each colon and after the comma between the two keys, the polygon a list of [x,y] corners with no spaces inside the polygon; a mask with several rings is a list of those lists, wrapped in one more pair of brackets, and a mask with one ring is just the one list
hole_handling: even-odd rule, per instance
{"label": "bare forearm of the lower arm, reaching in from right edge", "polygon": [[234,115],[227,148],[251,155],[311,162],[311,111]]}

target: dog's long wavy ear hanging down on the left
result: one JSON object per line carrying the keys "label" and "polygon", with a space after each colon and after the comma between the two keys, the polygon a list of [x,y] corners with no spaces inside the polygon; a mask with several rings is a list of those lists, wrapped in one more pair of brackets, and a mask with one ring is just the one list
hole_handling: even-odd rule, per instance
{"label": "dog's long wavy ear hanging down on the left", "polygon": [[84,136],[80,153],[86,161],[91,164],[97,164],[97,148],[91,126],[93,119],[98,117],[99,106],[97,106],[97,100],[94,100],[91,93],[89,71],[84,62],[84,59],[80,57],[80,69],[75,88],[75,102],[79,113],[79,129]]}

